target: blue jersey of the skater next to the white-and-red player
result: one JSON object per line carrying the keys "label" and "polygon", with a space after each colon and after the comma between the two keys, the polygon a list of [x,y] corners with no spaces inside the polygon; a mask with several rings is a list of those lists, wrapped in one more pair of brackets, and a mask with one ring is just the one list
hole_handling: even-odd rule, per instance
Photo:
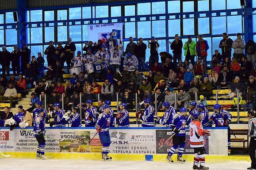
{"label": "blue jersey of the skater next to the white-and-red player", "polygon": [[[180,132],[175,134],[174,136],[185,136],[186,135],[185,123],[187,120],[188,120],[187,115],[185,117],[180,114],[176,114],[173,116],[172,124],[170,124],[170,128],[172,128],[174,126],[175,128],[180,129]],[[186,123],[186,125],[189,125],[190,122],[191,122],[191,119],[189,119],[189,121]]]}

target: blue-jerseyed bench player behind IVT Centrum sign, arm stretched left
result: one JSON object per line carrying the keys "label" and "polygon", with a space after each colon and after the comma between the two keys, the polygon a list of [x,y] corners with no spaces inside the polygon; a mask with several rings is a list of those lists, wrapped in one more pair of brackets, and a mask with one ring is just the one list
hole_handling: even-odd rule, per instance
{"label": "blue-jerseyed bench player behind IVT Centrum sign, arm stretched left", "polygon": [[154,115],[155,115],[155,109],[153,106],[150,105],[150,99],[144,100],[144,106],[145,110],[144,113],[141,111],[138,111],[136,113],[136,117],[142,120],[141,126],[142,127],[154,127]]}

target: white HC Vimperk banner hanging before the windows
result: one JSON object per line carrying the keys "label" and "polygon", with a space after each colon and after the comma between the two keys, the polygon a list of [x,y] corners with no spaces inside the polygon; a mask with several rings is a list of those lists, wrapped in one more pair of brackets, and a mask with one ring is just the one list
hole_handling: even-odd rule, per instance
{"label": "white HC Vimperk banner hanging before the windows", "polygon": [[110,38],[113,30],[121,30],[120,35],[122,35],[123,23],[103,23],[88,25],[88,40],[92,41],[93,43],[98,42],[98,40],[102,40],[102,43],[105,43],[105,41]]}

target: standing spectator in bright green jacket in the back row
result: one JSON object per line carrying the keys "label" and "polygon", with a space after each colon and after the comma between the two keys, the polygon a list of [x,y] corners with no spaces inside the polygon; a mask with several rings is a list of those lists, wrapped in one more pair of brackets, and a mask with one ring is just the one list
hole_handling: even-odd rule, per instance
{"label": "standing spectator in bright green jacket in the back row", "polygon": [[188,35],[188,41],[184,43],[183,49],[185,50],[185,59],[191,61],[191,64],[194,65],[195,63],[195,56],[196,56],[196,42],[192,41],[192,36]]}

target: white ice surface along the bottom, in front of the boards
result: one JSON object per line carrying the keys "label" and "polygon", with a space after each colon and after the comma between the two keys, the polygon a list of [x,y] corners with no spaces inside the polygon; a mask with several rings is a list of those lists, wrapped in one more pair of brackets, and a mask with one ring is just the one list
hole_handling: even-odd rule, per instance
{"label": "white ice surface along the bottom, in front of the boards", "polygon": [[[251,164],[246,161],[227,163],[205,163],[206,167],[214,170],[239,170],[247,169]],[[186,170],[193,167],[193,162],[185,164],[157,162],[157,161],[93,161],[93,160],[64,160],[64,159],[14,159],[0,158],[0,169],[11,170],[36,170],[40,169],[90,169],[90,170]]]}

